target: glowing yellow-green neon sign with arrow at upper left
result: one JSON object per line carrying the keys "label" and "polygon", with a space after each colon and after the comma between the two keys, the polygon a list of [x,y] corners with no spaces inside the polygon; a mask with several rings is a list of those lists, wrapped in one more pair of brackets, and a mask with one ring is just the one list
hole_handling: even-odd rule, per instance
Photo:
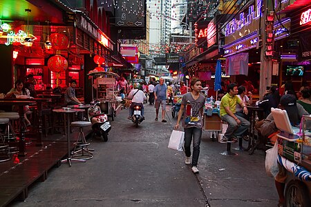
{"label": "glowing yellow-green neon sign with arrow at upper left", "polygon": [[[6,35],[3,35],[3,32],[6,32]],[[12,43],[21,43],[22,45],[25,44],[25,38],[29,36],[31,37],[32,41],[37,39],[37,37],[33,36],[32,34],[27,34],[23,30],[19,30],[17,33],[11,30],[11,26],[8,23],[2,23],[0,19],[0,38],[6,38],[7,41],[4,43],[6,46],[9,46]]]}

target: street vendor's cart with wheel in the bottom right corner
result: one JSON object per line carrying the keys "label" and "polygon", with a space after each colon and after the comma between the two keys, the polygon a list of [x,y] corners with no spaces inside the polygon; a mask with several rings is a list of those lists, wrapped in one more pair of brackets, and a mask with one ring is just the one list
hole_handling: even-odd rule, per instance
{"label": "street vendor's cart with wheel in the bottom right corner", "polygon": [[272,108],[278,137],[278,162],[287,173],[285,206],[310,206],[311,201],[311,116],[304,115],[301,127],[290,125],[285,110]]}

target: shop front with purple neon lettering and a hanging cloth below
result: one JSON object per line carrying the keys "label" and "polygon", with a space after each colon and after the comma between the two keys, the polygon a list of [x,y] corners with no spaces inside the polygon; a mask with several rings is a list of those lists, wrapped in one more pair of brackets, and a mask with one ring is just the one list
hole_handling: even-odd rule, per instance
{"label": "shop front with purple neon lettering and a hanging cloth below", "polygon": [[226,58],[225,71],[230,81],[238,85],[252,83],[253,93],[258,93],[261,64],[261,17],[262,0],[256,0],[243,8],[243,12],[235,15],[225,23]]}

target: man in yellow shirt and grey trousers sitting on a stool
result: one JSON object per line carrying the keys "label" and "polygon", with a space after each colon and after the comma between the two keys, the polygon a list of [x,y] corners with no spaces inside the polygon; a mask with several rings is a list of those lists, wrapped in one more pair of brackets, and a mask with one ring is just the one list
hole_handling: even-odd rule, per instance
{"label": "man in yellow shirt and grey trousers sitting on a stool", "polygon": [[230,83],[227,86],[227,94],[223,96],[220,102],[220,118],[228,124],[222,141],[236,142],[235,137],[241,137],[250,125],[249,121],[236,115],[236,103],[240,104],[245,115],[248,113],[245,103],[237,95],[238,86],[236,83]]}

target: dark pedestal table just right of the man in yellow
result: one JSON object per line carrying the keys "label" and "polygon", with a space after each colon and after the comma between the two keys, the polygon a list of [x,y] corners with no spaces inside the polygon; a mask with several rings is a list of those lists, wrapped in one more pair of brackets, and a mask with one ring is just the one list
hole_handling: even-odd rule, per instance
{"label": "dark pedestal table just right of the man in yellow", "polygon": [[260,113],[263,114],[264,109],[258,106],[247,106],[247,110],[249,112],[250,117],[250,126],[249,126],[248,147],[245,150],[249,151],[249,155],[252,155],[254,153],[254,150],[256,150],[258,146],[258,140],[256,141],[255,139],[256,113],[260,116]]}

